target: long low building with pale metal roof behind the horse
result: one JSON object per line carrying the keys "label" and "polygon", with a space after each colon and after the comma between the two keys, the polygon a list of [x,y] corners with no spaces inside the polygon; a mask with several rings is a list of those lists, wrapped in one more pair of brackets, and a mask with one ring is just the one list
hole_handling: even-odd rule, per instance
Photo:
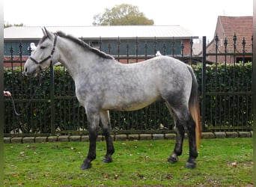
{"label": "long low building with pale metal roof behind the horse", "polygon": [[[46,27],[49,31],[64,31],[79,37],[110,55],[162,55],[189,56],[193,39],[198,39],[191,31],[180,25],[121,25],[121,26],[63,26]],[[30,43],[37,45],[43,36],[41,27],[4,28],[4,58],[24,58],[29,55]],[[10,49],[13,52],[10,52]]]}

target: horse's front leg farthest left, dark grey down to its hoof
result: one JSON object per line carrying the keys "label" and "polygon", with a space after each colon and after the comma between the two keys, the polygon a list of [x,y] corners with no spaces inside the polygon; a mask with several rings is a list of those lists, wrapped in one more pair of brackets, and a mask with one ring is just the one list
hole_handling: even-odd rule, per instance
{"label": "horse's front leg farthest left, dark grey down to its hoof", "polygon": [[98,126],[100,123],[100,115],[97,113],[91,114],[87,112],[87,119],[88,119],[88,131],[89,131],[89,151],[88,156],[86,157],[85,161],[81,165],[81,169],[88,169],[91,168],[91,162],[96,158],[96,141],[98,137]]}

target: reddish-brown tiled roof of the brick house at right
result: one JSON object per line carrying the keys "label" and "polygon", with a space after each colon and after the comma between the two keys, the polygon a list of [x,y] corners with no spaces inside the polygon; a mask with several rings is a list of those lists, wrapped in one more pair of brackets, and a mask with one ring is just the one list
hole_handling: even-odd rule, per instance
{"label": "reddish-brown tiled roof of the brick house at right", "polygon": [[[219,16],[217,25],[220,25],[224,39],[228,40],[229,44],[233,44],[234,34],[237,36],[237,48],[242,49],[243,37],[246,40],[246,46],[251,47],[253,35],[253,16]],[[233,45],[228,45],[228,48],[233,49]]]}

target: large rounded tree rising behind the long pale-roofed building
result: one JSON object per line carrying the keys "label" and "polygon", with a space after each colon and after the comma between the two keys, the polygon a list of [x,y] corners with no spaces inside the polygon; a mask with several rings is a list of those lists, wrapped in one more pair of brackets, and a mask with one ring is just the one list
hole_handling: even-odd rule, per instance
{"label": "large rounded tree rising behind the long pale-roofed building", "polygon": [[137,6],[120,4],[95,15],[93,25],[153,25],[153,19],[147,19]]}

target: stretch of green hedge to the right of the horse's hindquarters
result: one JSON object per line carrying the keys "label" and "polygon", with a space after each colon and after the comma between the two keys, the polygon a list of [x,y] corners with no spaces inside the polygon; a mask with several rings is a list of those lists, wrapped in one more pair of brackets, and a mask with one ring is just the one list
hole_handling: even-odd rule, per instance
{"label": "stretch of green hedge to the right of the horse's hindquarters", "polygon": [[[201,93],[201,66],[194,67]],[[252,129],[252,63],[206,68],[205,123],[211,129]]]}

